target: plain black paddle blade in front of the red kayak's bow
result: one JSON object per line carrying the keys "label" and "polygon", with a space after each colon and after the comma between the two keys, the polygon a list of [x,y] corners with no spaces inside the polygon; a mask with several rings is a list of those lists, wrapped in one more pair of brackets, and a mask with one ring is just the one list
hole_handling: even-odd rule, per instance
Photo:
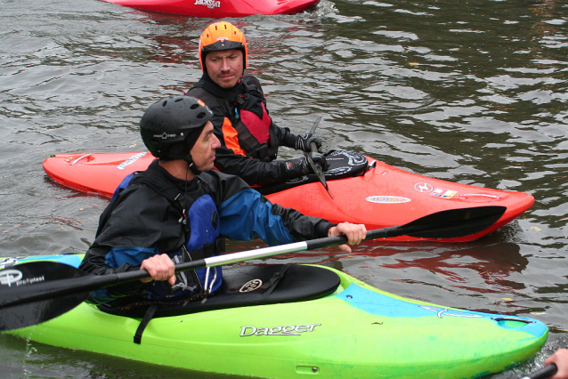
{"label": "plain black paddle blade in front of the red kayak's bow", "polygon": [[404,225],[411,237],[456,238],[486,230],[505,213],[505,206],[475,206],[429,214]]}

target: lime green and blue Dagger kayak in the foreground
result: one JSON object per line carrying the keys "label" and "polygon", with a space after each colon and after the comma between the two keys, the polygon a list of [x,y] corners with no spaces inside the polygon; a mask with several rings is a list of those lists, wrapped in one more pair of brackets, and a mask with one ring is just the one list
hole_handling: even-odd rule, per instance
{"label": "lime green and blue Dagger kayak in the foreground", "polygon": [[[38,260],[78,266],[81,255]],[[223,267],[223,288],[202,302],[100,310],[86,302],[10,332],[39,343],[202,372],[266,378],[470,378],[531,358],[540,321],[402,298],[310,265]],[[135,308],[135,307],[134,307]],[[126,312],[126,314],[122,314]]]}

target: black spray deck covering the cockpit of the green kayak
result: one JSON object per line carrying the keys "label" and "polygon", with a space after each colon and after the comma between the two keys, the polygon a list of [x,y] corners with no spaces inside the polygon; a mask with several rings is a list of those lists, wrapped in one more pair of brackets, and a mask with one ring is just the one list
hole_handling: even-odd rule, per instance
{"label": "black spray deck covering the cockpit of the green kayak", "polygon": [[158,304],[152,318],[180,316],[207,310],[280,302],[303,302],[333,294],[340,278],[332,270],[299,264],[223,266],[223,285],[212,296],[194,302],[137,302],[99,309],[119,316],[143,318]]}

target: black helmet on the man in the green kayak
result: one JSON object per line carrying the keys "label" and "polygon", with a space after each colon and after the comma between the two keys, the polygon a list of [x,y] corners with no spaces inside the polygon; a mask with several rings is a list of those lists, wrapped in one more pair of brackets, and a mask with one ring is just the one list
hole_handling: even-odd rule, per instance
{"label": "black helmet on the man in the green kayak", "polygon": [[140,121],[140,133],[154,157],[191,159],[190,150],[213,116],[203,101],[191,96],[170,96],[156,101]]}

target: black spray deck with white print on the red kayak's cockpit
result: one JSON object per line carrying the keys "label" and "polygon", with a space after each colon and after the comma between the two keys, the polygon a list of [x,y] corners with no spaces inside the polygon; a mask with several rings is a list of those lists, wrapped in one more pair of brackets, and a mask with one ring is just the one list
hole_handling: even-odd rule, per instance
{"label": "black spray deck with white print on the red kayak's cockpit", "polygon": [[[328,170],[323,173],[326,181],[362,175],[366,172],[367,167],[369,166],[367,157],[355,151],[329,150],[324,155],[329,165]],[[300,176],[299,178],[284,181],[283,183],[272,184],[270,186],[263,186],[256,189],[263,195],[270,195],[274,192],[280,192],[284,189],[291,189],[302,184],[316,181],[320,181],[318,176],[315,173],[310,173],[308,175]]]}

